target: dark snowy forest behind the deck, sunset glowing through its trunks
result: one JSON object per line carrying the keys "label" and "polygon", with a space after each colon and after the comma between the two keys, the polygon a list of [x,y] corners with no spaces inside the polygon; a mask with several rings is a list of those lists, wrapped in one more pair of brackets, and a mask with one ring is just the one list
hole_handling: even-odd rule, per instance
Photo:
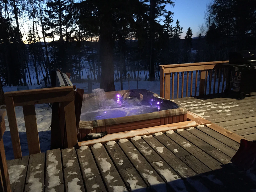
{"label": "dark snowy forest behind the deck, sunset glowing through its trunks", "polygon": [[214,0],[193,39],[190,27],[180,39],[184,29],[167,4],[174,6],[169,0],[1,0],[0,84],[40,84],[44,76],[50,82],[51,71],[60,69],[75,82],[89,75],[112,91],[114,80],[122,83],[128,73],[139,78],[134,71],[148,71],[145,80],[154,81],[159,65],[228,60],[230,51],[256,49],[254,0]]}

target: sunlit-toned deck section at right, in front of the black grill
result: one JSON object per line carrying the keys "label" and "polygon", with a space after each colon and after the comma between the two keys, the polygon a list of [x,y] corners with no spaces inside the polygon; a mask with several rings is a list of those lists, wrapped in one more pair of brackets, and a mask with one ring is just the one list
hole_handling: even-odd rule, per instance
{"label": "sunlit-toned deck section at right, in front of the black grill", "polygon": [[174,99],[195,113],[250,141],[256,140],[256,92],[244,100],[230,99],[224,94],[206,95],[203,98]]}

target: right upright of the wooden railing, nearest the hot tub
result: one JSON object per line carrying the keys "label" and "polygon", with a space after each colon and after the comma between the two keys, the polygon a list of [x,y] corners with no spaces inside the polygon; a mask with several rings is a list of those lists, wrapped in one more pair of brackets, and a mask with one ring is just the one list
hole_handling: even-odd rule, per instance
{"label": "right upright of the wooden railing, nearest the hot tub", "polygon": [[66,133],[67,133],[67,148],[77,144],[77,127],[75,117],[74,101],[66,101],[64,104]]}

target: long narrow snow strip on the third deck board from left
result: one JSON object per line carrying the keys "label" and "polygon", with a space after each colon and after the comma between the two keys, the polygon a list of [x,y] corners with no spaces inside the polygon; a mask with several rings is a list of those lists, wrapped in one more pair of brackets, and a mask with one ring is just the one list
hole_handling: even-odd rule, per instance
{"label": "long narrow snow strip on the third deck board from left", "polygon": [[60,170],[56,167],[58,165],[58,161],[56,160],[56,156],[53,155],[53,153],[48,154],[48,160],[51,163],[49,163],[46,168],[49,177],[49,185],[47,188],[51,189],[57,185],[60,185],[60,177],[58,176]]}

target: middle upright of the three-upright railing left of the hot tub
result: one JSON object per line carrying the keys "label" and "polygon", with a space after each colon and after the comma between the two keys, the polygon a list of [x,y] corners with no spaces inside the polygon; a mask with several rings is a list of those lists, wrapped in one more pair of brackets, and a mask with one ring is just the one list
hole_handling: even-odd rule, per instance
{"label": "middle upright of the three-upright railing left of the hot tub", "polygon": [[25,120],[29,155],[41,153],[36,123],[35,105],[23,106],[23,114]]}

